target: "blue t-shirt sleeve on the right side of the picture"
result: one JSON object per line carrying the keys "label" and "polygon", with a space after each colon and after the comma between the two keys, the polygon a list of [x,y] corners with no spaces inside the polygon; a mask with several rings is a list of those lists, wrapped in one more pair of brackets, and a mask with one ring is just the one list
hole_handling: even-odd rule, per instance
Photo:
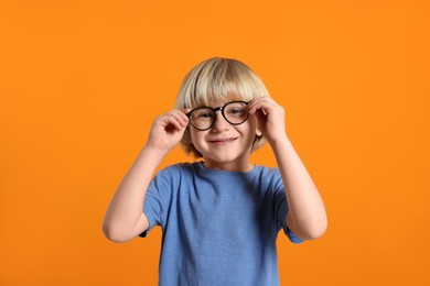
{"label": "blue t-shirt sleeve on the right side of the picture", "polygon": [[293,233],[290,228],[288,228],[286,218],[288,213],[288,201],[286,197],[286,191],[283,189],[282,178],[279,175],[278,184],[275,194],[275,215],[277,217],[277,222],[279,229],[283,229],[283,232],[287,234],[288,239],[293,243],[303,242],[295,233]]}

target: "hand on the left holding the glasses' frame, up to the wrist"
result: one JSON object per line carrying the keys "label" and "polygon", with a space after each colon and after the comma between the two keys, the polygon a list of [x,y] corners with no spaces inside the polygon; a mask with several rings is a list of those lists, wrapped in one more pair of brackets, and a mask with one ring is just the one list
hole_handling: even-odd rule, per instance
{"label": "hand on the left holding the glasses' frame, up to the wrist", "polygon": [[190,109],[171,110],[158,118],[152,123],[149,133],[147,147],[160,151],[166,154],[171,151],[182,139],[189,118],[186,112]]}

